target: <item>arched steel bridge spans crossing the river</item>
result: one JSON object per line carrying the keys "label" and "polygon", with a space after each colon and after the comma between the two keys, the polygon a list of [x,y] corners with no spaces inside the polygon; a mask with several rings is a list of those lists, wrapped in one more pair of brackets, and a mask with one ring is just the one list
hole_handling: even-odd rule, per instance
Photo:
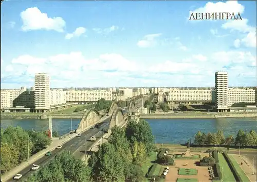
{"label": "arched steel bridge spans crossing the river", "polygon": [[143,103],[146,99],[147,97],[140,97],[137,100],[131,101],[126,107],[127,113],[118,106],[117,102],[112,103],[106,116],[101,115],[95,109],[88,110],[84,113],[76,132],[83,132],[104,120],[110,120],[109,129],[112,129],[115,125],[122,125],[128,119],[136,119],[139,117],[138,113],[140,112],[140,108],[143,107]]}

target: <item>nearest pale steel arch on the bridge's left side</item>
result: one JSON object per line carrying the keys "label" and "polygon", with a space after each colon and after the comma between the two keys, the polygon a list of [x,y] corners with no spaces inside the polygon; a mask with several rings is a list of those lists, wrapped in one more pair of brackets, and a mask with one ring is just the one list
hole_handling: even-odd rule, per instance
{"label": "nearest pale steel arch on the bridge's left side", "polygon": [[77,133],[84,131],[91,125],[95,125],[101,119],[101,114],[96,109],[88,110],[84,113],[82,119],[80,120]]}

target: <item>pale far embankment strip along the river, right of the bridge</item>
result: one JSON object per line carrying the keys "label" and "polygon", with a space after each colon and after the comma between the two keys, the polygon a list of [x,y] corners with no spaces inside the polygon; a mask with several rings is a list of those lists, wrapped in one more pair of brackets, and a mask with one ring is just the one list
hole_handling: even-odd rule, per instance
{"label": "pale far embankment strip along the river, right of the bridge", "polygon": [[199,114],[199,113],[179,113],[179,114],[142,114],[141,119],[203,119],[203,118],[229,118],[229,117],[256,117],[257,113],[253,114]]}

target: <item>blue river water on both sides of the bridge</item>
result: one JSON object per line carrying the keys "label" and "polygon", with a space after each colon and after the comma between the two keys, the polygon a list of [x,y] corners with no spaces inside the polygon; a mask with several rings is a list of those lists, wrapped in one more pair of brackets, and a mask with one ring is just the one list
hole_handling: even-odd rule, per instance
{"label": "blue river water on both sides of the bridge", "polygon": [[[243,129],[249,132],[257,132],[257,117],[254,118],[210,118],[210,119],[145,119],[152,128],[157,144],[179,144],[185,143],[189,138],[194,138],[197,131],[216,132],[223,130],[224,135],[236,135],[237,131]],[[52,129],[60,135],[76,129],[80,119],[52,119]],[[2,119],[1,127],[20,126],[26,130],[47,130],[48,119]]]}

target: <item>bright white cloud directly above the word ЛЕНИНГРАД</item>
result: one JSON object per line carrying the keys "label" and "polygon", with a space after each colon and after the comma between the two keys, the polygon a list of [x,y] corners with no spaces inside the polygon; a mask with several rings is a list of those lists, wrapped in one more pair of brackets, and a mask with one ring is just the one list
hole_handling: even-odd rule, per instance
{"label": "bright white cloud directly above the word \u041b\u0415\u041d\u0418\u041d\u0413\u0420\u0410\u0414", "polygon": [[226,3],[224,2],[217,2],[217,3],[212,3],[208,2],[204,7],[200,7],[195,9],[194,11],[189,12],[189,17],[192,13],[219,13],[219,12],[228,12],[228,13],[234,13],[237,14],[239,13],[244,13],[245,7],[237,1],[227,1]]}

